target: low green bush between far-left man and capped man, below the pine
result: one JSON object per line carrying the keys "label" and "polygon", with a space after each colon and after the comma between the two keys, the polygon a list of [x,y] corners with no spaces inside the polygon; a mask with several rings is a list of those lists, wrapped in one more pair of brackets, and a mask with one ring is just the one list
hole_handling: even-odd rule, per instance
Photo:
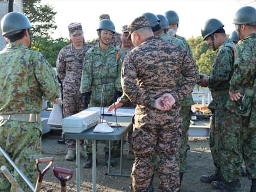
{"label": "low green bush between far-left man and capped man, below the pine", "polygon": [[60,49],[68,44],[68,39],[59,38],[54,40],[43,37],[35,39],[31,49],[41,52],[52,67],[56,67],[56,60]]}

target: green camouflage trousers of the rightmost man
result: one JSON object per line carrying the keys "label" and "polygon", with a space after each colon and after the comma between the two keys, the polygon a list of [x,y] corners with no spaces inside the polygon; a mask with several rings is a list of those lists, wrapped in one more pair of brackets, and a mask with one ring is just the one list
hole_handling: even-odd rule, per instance
{"label": "green camouflage trousers of the rightmost man", "polygon": [[250,117],[226,111],[225,131],[221,144],[221,170],[226,181],[240,176],[240,167],[245,162],[250,179],[256,179],[256,127],[248,128]]}

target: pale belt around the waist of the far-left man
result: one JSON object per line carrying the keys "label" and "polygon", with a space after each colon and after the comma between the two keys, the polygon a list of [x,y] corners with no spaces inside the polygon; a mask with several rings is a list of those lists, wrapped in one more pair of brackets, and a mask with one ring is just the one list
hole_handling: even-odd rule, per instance
{"label": "pale belt around the waist of the far-left man", "polygon": [[41,122],[40,114],[9,114],[0,115],[0,120]]}

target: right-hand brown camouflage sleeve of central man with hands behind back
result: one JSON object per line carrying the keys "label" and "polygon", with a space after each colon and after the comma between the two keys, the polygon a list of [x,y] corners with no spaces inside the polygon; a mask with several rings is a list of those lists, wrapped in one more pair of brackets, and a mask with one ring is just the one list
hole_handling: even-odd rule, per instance
{"label": "right-hand brown camouflage sleeve of central man with hands behind back", "polygon": [[186,98],[187,95],[193,91],[199,77],[198,68],[193,58],[188,56],[186,51],[181,53],[183,53],[182,55],[185,55],[180,56],[180,58],[183,58],[181,70],[183,79],[180,86],[174,87],[173,91],[171,92],[177,103]]}

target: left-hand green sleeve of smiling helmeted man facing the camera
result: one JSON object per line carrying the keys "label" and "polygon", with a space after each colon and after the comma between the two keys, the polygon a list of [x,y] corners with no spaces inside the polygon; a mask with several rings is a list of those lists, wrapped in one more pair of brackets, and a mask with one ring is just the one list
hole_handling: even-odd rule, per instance
{"label": "left-hand green sleeve of smiling helmeted man facing the camera", "polygon": [[83,64],[80,93],[86,93],[91,91],[92,73],[93,57],[90,55],[90,53],[87,52]]}

